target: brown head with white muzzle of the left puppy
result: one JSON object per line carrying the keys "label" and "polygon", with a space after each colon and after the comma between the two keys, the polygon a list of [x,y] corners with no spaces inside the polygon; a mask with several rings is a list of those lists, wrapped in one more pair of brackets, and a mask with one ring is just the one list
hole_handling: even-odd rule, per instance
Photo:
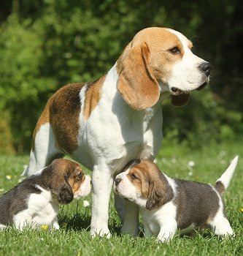
{"label": "brown head with white muzzle of the left puppy", "polygon": [[45,183],[58,199],[58,203],[70,203],[74,198],[90,193],[90,176],[82,173],[80,165],[67,159],[55,159],[43,171]]}

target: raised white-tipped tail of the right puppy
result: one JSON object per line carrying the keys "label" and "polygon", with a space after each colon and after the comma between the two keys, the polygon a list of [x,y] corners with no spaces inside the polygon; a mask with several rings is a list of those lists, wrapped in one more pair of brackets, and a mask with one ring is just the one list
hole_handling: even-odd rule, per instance
{"label": "raised white-tipped tail of the right puppy", "polygon": [[228,184],[230,183],[231,178],[234,174],[234,170],[236,169],[237,162],[238,156],[236,156],[232,160],[231,165],[229,165],[229,167],[227,168],[227,170],[225,170],[223,175],[219,179],[217,179],[215,183],[215,189],[217,190],[217,192],[220,193],[220,195],[222,195],[223,192],[225,192],[225,190],[227,189]]}

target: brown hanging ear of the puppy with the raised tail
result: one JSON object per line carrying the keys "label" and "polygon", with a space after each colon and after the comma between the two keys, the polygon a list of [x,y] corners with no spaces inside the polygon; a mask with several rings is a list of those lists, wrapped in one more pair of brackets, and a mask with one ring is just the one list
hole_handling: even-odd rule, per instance
{"label": "brown hanging ear of the puppy with the raised tail", "polygon": [[166,192],[163,184],[159,181],[152,181],[150,183],[149,196],[146,203],[147,210],[151,211],[163,206],[165,200]]}

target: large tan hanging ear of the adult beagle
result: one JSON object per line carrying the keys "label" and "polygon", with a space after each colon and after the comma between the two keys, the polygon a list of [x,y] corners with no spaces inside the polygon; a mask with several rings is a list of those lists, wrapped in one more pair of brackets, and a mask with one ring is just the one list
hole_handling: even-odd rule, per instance
{"label": "large tan hanging ear of the adult beagle", "polygon": [[123,99],[136,110],[150,108],[158,102],[158,82],[149,66],[150,49],[143,42],[130,49],[127,47],[120,57],[117,89]]}

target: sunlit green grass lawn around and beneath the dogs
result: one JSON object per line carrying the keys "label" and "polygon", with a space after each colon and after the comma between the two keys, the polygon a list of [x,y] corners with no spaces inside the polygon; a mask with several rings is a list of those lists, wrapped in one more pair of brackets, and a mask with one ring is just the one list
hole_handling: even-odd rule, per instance
{"label": "sunlit green grass lawn around and beneath the dogs", "polygon": [[[157,157],[158,166],[171,177],[214,184],[230,160],[239,154],[239,164],[223,197],[226,214],[236,233],[235,238],[223,240],[206,230],[197,233],[194,238],[177,235],[168,244],[161,244],[154,237],[133,238],[121,235],[121,224],[113,206],[112,195],[109,207],[112,238],[92,239],[89,234],[91,208],[82,206],[83,200],[91,201],[90,195],[61,206],[61,230],[24,230],[20,233],[9,227],[0,232],[0,255],[243,255],[243,213],[240,211],[243,208],[242,145],[212,144],[190,149],[186,146],[169,146],[167,142]],[[189,167],[189,161],[195,162],[195,165]],[[4,189],[0,195],[18,183],[23,165],[27,164],[28,156],[0,156],[0,189]],[[12,175],[12,178],[7,179],[7,175]]]}

